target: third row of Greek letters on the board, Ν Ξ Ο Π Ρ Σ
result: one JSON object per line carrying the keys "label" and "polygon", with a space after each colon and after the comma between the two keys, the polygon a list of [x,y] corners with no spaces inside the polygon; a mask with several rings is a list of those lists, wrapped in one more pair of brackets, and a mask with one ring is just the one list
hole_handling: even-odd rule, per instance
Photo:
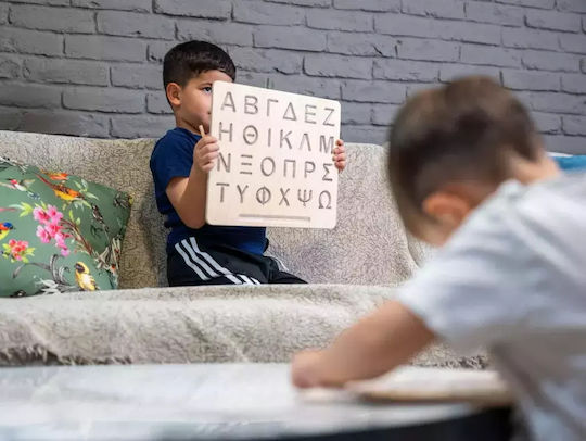
{"label": "third row of Greek letters on the board, \u039d \u039e \u039f \u03a0 \u03a1 \u03a3", "polygon": [[[332,163],[321,163],[321,169],[318,169],[319,167],[316,165],[315,161],[295,161],[295,160],[284,160],[282,163],[280,161],[275,160],[271,156],[265,156],[263,158],[258,164],[257,167],[253,164],[253,155],[252,154],[240,154],[240,162],[238,163],[239,169],[238,173],[241,175],[252,175],[253,171],[259,171],[263,176],[269,177],[275,174],[282,175],[284,178],[293,178],[295,179],[297,177],[297,164],[298,167],[298,176],[303,176],[305,179],[313,173],[320,173],[321,174],[321,180],[331,182],[333,180],[333,174],[334,174],[334,165]],[[227,173],[231,173],[232,171],[232,153],[219,153],[218,155],[218,162],[217,162],[217,171],[221,172],[222,168]],[[235,173],[235,171],[234,171]]]}

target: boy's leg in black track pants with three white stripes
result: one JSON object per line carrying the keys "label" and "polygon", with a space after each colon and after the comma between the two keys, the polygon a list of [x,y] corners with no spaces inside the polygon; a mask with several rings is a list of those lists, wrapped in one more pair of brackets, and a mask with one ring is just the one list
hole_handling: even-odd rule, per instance
{"label": "boy's leg in black track pants with three white stripes", "polygon": [[268,282],[264,257],[228,247],[206,248],[184,239],[167,256],[169,286],[260,285]]}

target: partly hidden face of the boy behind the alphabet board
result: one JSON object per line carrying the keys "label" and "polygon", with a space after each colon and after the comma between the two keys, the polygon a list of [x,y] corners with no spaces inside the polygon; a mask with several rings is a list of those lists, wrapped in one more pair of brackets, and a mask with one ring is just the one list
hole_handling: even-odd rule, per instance
{"label": "partly hidden face of the boy behind the alphabet board", "polygon": [[176,83],[167,86],[167,98],[174,106],[179,127],[199,133],[199,126],[202,125],[205,133],[209,133],[214,81],[232,83],[232,78],[221,71],[207,71],[191,78],[183,87]]}

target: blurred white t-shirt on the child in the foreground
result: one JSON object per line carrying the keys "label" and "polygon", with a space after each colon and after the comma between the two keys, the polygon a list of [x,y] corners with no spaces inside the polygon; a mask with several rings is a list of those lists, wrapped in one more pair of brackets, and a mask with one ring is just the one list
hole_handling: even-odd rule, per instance
{"label": "blurred white t-shirt on the child in the foreground", "polygon": [[586,440],[586,175],[504,184],[398,300],[488,349],[534,440]]}

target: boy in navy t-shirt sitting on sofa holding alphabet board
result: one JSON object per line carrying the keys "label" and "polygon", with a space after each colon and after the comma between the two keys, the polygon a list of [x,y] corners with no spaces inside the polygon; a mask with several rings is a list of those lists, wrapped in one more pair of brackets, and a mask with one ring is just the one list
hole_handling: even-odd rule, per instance
{"label": "boy in navy t-shirt sitting on sofa holding alphabet board", "polygon": [[[264,255],[268,247],[265,227],[206,223],[208,174],[221,152],[221,142],[206,135],[211,128],[212,85],[234,79],[232,60],[215,45],[188,41],[165,55],[163,81],[177,127],[157,141],[150,165],[157,207],[170,228],[169,286],[304,282]],[[246,143],[251,138],[240,139]],[[344,144],[337,140],[332,148],[329,154],[342,171],[346,164]],[[265,169],[268,166],[265,164]],[[266,192],[259,194],[268,198]]]}

